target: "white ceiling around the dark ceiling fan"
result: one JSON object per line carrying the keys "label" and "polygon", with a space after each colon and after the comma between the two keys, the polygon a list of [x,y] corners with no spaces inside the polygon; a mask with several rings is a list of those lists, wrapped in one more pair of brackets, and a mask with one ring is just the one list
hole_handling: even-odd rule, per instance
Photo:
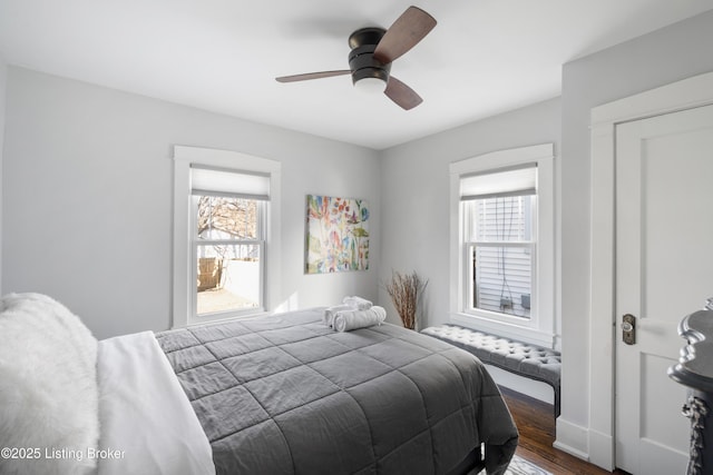
{"label": "white ceiling around the dark ceiling fan", "polygon": [[[437,20],[391,69],[423,103],[355,90],[349,34],[409,4]],[[0,0],[6,62],[384,149],[560,93],[561,65],[713,0]]]}

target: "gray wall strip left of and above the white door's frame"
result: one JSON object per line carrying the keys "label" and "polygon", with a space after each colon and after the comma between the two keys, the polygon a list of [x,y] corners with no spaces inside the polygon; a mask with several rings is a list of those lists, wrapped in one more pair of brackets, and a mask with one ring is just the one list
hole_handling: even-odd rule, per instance
{"label": "gray wall strip left of and above the white door's frame", "polygon": [[[713,70],[713,11],[566,63],[561,96],[563,419],[588,420],[589,111]],[[586,451],[586,446],[576,447]]]}

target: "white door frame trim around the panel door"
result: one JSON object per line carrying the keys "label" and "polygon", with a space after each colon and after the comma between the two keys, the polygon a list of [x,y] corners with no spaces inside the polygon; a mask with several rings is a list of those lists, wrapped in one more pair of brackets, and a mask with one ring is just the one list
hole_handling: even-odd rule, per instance
{"label": "white door frame trim around the panel door", "polygon": [[707,105],[713,105],[713,72],[608,102],[593,108],[590,112],[588,455],[589,462],[609,471],[616,463],[616,126]]}

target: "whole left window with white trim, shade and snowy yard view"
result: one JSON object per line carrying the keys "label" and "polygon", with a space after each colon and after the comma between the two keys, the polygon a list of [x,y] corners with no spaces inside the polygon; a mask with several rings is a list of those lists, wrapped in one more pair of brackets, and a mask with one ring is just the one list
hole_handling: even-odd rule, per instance
{"label": "whole left window with white trim, shade and snowy yard view", "polygon": [[173,326],[274,308],[280,164],[179,146],[174,160]]}

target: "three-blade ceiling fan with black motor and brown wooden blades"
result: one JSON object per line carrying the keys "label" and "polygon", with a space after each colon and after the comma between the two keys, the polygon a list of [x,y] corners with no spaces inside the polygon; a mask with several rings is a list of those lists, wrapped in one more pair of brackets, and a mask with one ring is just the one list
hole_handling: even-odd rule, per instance
{"label": "three-blade ceiling fan with black motor and brown wooden blades", "polygon": [[350,69],[282,76],[275,79],[279,82],[295,82],[352,75],[354,86],[378,87],[403,109],[413,109],[423,99],[390,75],[391,63],[421,41],[433,27],[433,17],[418,7],[409,7],[388,30],[361,28],[349,37]]}

